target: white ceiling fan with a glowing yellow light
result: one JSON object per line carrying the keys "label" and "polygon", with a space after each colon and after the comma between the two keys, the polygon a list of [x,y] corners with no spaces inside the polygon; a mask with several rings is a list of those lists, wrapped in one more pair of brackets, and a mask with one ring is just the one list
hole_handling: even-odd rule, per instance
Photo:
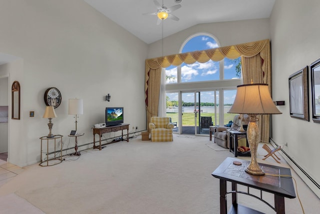
{"label": "white ceiling fan with a glowing yellow light", "polygon": [[153,0],[153,3],[156,6],[156,8],[158,9],[157,12],[146,13],[146,14],[142,14],[142,15],[157,15],[157,17],[158,17],[158,20],[156,22],[157,25],[159,25],[161,23],[161,21],[165,20],[166,18],[169,18],[174,21],[179,21],[179,18],[172,15],[171,12],[181,8],[181,5],[175,5],[170,8],[167,8],[163,5],[163,0],[162,0],[162,5],[160,5],[156,0]]}

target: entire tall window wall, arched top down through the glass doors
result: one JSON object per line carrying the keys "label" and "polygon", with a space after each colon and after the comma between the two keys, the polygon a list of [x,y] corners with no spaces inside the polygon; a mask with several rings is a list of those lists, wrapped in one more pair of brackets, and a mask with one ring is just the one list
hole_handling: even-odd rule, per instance
{"label": "entire tall window wall, arched top down through the glass doors", "polygon": [[[179,53],[218,47],[220,44],[214,36],[198,33],[181,44]],[[227,112],[234,101],[240,78],[240,58],[224,58],[219,62],[209,60],[205,63],[182,63],[165,68],[165,115],[177,122],[174,131],[186,133],[185,127],[192,126],[194,129],[191,132],[208,134],[207,129],[200,127],[201,117],[211,117],[213,125],[224,125],[232,120],[234,115]],[[198,114],[197,121],[194,121],[195,112]]]}

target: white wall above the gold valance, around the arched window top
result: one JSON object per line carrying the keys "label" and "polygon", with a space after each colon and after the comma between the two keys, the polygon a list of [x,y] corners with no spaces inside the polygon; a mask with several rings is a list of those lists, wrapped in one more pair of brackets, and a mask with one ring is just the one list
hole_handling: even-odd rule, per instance
{"label": "white wall above the gold valance, around the arched window top", "polygon": [[[270,38],[268,19],[200,24],[163,38],[163,55],[178,54],[182,43],[197,33],[213,35],[221,47]],[[148,46],[148,59],[162,55],[161,44],[159,40]]]}

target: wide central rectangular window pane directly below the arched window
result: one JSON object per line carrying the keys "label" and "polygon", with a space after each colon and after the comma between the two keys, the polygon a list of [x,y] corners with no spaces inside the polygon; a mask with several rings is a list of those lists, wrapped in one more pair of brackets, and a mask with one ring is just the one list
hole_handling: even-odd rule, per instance
{"label": "wide central rectangular window pane directly below the arched window", "polygon": [[219,80],[219,62],[181,64],[181,82],[200,82]]}

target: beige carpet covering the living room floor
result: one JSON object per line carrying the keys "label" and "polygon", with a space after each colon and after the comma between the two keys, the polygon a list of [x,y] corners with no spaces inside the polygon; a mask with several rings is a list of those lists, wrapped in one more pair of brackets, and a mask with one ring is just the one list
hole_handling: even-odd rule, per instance
{"label": "beige carpet covering the living room floor", "polygon": [[[209,137],[173,138],[151,142],[139,136],[101,151],[81,151],[77,160],[27,166],[0,187],[0,196],[14,193],[44,213],[219,213],[219,180],[211,173],[233,154],[209,148]],[[276,164],[272,158],[262,162]],[[280,165],[287,167],[285,162]],[[320,200],[292,175],[305,213],[319,210]],[[266,200],[272,199],[266,194]],[[239,195],[238,201],[274,213],[252,197]],[[285,208],[286,213],[302,213],[297,198],[285,199]],[[9,213],[32,213],[12,209]]]}

